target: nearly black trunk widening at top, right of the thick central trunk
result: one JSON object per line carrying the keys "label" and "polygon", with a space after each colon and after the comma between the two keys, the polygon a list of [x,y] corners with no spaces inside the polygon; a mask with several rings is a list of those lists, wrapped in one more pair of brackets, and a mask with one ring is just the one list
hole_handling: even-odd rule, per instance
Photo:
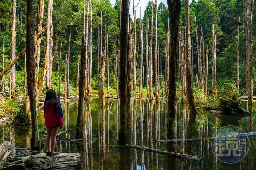
{"label": "nearly black trunk widening at top, right of the thick central trunk", "polygon": [[169,61],[169,96],[168,96],[168,112],[167,112],[167,137],[174,137],[174,121],[175,115],[177,112],[176,105],[176,73],[177,73],[177,37],[179,31],[179,23],[180,23],[180,0],[167,0],[168,10],[169,10],[169,18],[170,18],[170,61]]}

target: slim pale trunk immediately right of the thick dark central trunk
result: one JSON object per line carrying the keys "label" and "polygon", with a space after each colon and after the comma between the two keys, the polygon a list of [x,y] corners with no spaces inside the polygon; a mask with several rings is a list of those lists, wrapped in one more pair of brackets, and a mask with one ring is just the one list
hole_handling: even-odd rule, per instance
{"label": "slim pale trunk immediately right of the thick dark central trunk", "polygon": [[133,98],[136,102],[136,45],[137,45],[137,17],[133,0],[133,16],[134,16],[134,25],[133,25]]}

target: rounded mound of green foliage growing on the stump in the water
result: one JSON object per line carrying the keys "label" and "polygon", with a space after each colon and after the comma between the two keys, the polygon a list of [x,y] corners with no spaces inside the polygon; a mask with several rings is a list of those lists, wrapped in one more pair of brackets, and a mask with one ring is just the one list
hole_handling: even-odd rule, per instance
{"label": "rounded mound of green foliage growing on the stump in the water", "polygon": [[240,97],[234,83],[226,82],[219,87],[218,97],[215,102],[217,108],[222,110],[230,110],[240,105]]}

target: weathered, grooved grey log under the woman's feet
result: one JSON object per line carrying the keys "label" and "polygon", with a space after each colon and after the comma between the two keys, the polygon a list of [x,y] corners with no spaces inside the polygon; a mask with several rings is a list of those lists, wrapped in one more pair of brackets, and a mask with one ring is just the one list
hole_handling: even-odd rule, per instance
{"label": "weathered, grooved grey log under the woman's feet", "polygon": [[12,163],[2,169],[81,169],[82,159],[80,153],[60,153],[52,157],[45,153],[26,157],[10,156],[8,161]]}

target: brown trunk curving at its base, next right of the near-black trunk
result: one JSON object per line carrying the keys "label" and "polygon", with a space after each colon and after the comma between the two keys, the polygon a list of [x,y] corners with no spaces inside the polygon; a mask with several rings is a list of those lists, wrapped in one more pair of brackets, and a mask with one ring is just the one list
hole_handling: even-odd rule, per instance
{"label": "brown trunk curving at its base, next right of the near-black trunk", "polygon": [[[189,104],[190,113],[196,114],[196,107],[194,102],[194,94],[192,89],[192,64],[191,64],[191,53],[190,53],[190,23],[189,23],[189,0],[185,1],[186,8],[186,50],[187,50],[187,58],[186,58],[186,87],[187,87],[187,100]],[[207,77],[207,76],[206,76]]]}

